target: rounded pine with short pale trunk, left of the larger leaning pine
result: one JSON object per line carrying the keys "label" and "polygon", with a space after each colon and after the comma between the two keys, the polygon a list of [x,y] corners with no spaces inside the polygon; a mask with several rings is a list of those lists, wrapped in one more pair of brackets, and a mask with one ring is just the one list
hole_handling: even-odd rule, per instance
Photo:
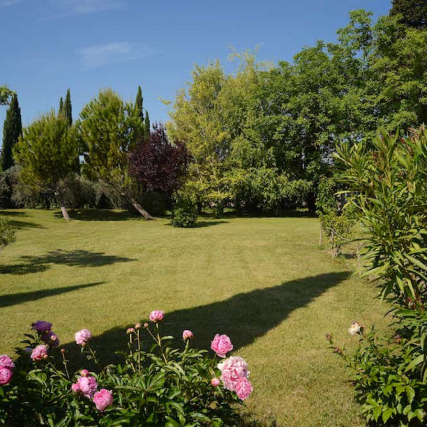
{"label": "rounded pine with short pale trunk, left of the larger leaning pine", "polygon": [[56,197],[63,218],[69,220],[64,202],[66,179],[75,172],[79,143],[75,129],[64,117],[52,112],[24,128],[13,149],[20,180]]}

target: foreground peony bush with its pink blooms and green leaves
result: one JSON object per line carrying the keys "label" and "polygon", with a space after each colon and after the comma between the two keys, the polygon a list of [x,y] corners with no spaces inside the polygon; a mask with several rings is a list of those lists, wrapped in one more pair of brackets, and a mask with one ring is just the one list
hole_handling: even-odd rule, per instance
{"label": "foreground peony bush with its pink blooms and green leaves", "polygon": [[[172,337],[160,335],[164,313],[151,312],[150,324],[126,332],[123,362],[100,368],[87,329],[75,334],[93,371],[70,373],[66,352],[52,324],[38,321],[25,334],[15,363],[0,356],[0,423],[49,426],[238,426],[242,404],[252,391],[248,366],[228,357],[230,338],[217,334],[213,357],[190,346],[191,331],[173,348]],[[146,337],[153,342],[142,350]],[[61,356],[62,368],[55,359]],[[223,361],[218,364],[218,357]]]}

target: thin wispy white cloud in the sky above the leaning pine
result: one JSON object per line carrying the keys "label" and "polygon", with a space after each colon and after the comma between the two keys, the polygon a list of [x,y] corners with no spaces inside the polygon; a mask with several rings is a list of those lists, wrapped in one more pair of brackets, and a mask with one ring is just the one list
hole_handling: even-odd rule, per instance
{"label": "thin wispy white cloud in the sky above the leaning pine", "polygon": [[110,63],[140,59],[158,53],[147,45],[138,43],[105,43],[77,50],[86,68],[98,68]]}

